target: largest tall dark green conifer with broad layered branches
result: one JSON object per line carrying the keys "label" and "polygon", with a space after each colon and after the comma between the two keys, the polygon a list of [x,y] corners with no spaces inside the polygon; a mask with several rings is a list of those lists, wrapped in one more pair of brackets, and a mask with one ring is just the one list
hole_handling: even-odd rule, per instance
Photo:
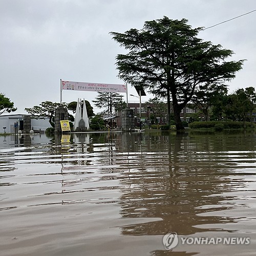
{"label": "largest tall dark green conifer with broad layered branches", "polygon": [[232,56],[231,50],[198,38],[202,29],[192,29],[186,19],[164,16],[145,22],[141,30],[111,32],[113,39],[129,51],[116,57],[119,78],[166,97],[168,122],[172,98],[177,130],[184,129],[180,113],[199,84],[223,83],[242,69],[243,60],[224,61]]}

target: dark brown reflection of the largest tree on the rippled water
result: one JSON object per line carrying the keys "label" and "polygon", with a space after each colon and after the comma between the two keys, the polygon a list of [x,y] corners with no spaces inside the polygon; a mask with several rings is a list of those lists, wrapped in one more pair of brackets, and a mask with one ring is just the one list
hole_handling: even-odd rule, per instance
{"label": "dark brown reflection of the largest tree on the rippled water", "polygon": [[[158,145],[166,154],[159,152],[146,158],[142,154],[136,159],[136,166],[131,162],[127,164],[129,172],[121,180],[125,185],[120,198],[121,215],[126,218],[158,217],[163,221],[126,226],[123,234],[165,234],[169,230],[193,234],[199,231],[198,225],[234,221],[228,217],[201,218],[203,212],[233,207],[222,203],[227,198],[212,195],[232,191],[234,187],[243,188],[244,184],[230,176],[230,164],[223,165],[224,159],[219,153],[208,152],[213,146],[209,138],[206,143],[200,143],[202,152],[196,151],[194,139],[190,142],[188,139],[188,134],[163,136]],[[145,147],[148,145],[144,145],[142,151]],[[205,205],[207,208],[202,208]]]}

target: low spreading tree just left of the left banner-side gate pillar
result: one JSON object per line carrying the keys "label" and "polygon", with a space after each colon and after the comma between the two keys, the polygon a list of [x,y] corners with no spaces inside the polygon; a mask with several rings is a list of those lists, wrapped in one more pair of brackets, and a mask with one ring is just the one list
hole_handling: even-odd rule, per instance
{"label": "low spreading tree just left of the left banner-side gate pillar", "polygon": [[[60,103],[52,101],[44,101],[39,104],[39,106],[33,106],[33,108],[25,108],[25,110],[33,115],[35,119],[44,119],[44,117],[49,117],[49,123],[54,127],[54,114],[56,108]],[[62,103],[64,107],[67,107],[66,103]]]}

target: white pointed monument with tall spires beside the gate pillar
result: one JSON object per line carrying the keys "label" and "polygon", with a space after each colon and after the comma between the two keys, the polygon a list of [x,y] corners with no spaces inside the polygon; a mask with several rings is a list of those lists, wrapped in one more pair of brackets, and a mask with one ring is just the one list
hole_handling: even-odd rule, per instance
{"label": "white pointed monument with tall spires beside the gate pillar", "polygon": [[90,129],[86,110],[86,101],[78,98],[76,105],[76,115],[74,122],[74,131],[84,131]]}

